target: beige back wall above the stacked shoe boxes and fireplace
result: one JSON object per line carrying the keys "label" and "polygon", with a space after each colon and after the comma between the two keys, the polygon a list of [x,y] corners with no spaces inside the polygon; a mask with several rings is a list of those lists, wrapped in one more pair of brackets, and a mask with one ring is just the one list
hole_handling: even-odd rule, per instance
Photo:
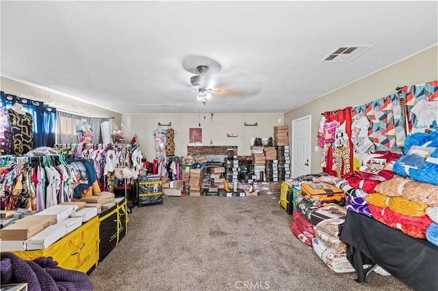
{"label": "beige back wall above the stacked shoe boxes and fireplace", "polygon": [[[279,123],[279,119],[281,122]],[[185,156],[189,139],[189,128],[199,127],[198,114],[125,114],[123,115],[123,130],[129,141],[134,134],[140,144],[144,156],[152,161],[155,158],[155,143],[153,130],[158,122],[168,124],[172,122],[175,130],[175,155]],[[258,126],[244,126],[255,124]],[[203,145],[209,146],[210,139],[213,146],[238,146],[238,153],[250,155],[252,137],[272,137],[274,126],[283,125],[283,113],[257,114],[219,114],[215,113],[211,120],[210,113],[201,113],[201,128],[203,129]],[[167,129],[168,126],[162,126]],[[237,137],[227,137],[227,133],[237,133]]]}

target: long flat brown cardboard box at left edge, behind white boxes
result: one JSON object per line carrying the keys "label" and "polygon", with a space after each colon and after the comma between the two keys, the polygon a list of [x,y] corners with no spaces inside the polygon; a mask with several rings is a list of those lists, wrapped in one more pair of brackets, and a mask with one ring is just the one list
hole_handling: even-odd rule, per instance
{"label": "long flat brown cardboard box at left edge, behind white boxes", "polygon": [[56,223],[56,215],[29,215],[0,231],[1,240],[27,240]]}

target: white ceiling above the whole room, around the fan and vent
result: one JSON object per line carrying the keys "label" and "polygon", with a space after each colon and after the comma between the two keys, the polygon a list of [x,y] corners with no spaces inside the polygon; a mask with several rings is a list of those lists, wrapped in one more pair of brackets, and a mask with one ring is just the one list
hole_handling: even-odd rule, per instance
{"label": "white ceiling above the whole room, around the fan and vent", "polygon": [[[199,55],[222,66],[207,111],[283,113],[437,44],[437,25],[437,1],[1,1],[1,75],[119,113],[198,113],[182,64]],[[321,62],[350,45],[373,47]]]}

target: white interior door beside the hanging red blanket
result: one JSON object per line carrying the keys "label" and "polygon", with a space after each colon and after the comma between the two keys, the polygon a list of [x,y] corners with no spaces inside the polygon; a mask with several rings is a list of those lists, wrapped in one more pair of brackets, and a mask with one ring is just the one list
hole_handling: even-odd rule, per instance
{"label": "white interior door beside the hanging red blanket", "polygon": [[292,178],[310,174],[311,115],[292,120]]}

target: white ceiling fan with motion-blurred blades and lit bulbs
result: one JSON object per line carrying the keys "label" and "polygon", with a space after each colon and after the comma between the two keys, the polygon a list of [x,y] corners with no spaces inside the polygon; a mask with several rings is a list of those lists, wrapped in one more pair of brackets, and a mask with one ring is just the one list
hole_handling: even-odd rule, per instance
{"label": "white ceiling fan with motion-blurred blades and lit bulbs", "polygon": [[257,94],[261,85],[242,77],[219,73],[222,67],[214,59],[190,55],[183,61],[183,68],[195,74],[190,77],[190,91],[205,105],[211,96],[248,96]]}

